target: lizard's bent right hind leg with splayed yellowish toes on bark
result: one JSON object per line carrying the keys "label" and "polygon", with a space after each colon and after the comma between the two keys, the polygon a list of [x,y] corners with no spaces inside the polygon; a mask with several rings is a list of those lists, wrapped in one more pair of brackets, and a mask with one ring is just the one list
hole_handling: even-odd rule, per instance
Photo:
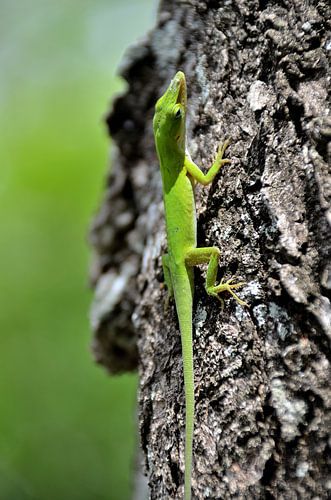
{"label": "lizard's bent right hind leg with splayed yellowish toes on bark", "polygon": [[229,292],[232,297],[240,304],[241,306],[247,306],[248,304],[241,300],[238,295],[233,291],[242,285],[244,282],[233,283],[234,277],[229,279],[226,282],[221,282],[217,285],[217,270],[218,270],[218,261],[221,252],[217,247],[202,247],[202,248],[192,248],[186,253],[185,262],[189,266],[196,266],[199,264],[208,264],[207,268],[207,276],[206,276],[206,292],[208,295],[212,295],[216,297],[222,304],[224,305],[223,299],[219,296],[222,292]]}

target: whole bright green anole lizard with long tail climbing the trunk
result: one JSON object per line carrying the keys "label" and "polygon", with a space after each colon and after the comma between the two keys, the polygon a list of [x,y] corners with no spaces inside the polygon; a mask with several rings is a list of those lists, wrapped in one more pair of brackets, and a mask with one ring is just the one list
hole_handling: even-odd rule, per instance
{"label": "whole bright green anole lizard with long tail climbing the trunk", "polygon": [[193,266],[208,264],[206,292],[219,300],[227,291],[240,305],[247,305],[233,291],[244,283],[216,284],[220,250],[197,248],[194,184],[207,185],[230,160],[223,159],[228,145],[220,145],[216,159],[204,174],[186,150],[187,94],[185,75],[176,73],[157,101],[153,120],[155,145],[163,183],[168,253],[162,257],[164,279],[170,297],[175,298],[182,342],[185,387],[185,474],[184,499],[191,498],[192,446],[194,427],[194,372],[192,341]]}

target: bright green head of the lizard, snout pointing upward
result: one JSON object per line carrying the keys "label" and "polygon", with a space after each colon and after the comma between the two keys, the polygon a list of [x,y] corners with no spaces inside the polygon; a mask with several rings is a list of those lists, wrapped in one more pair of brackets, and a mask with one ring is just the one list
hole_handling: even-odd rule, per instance
{"label": "bright green head of the lizard, snout pointing upward", "polygon": [[166,138],[169,146],[173,143],[185,149],[186,101],[185,75],[178,71],[155,106],[153,129],[157,143]]}

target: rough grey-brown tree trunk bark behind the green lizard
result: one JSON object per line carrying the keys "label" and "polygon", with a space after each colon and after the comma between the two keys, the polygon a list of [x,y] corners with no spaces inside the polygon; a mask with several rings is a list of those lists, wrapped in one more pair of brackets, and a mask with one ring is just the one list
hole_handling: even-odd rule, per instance
{"label": "rough grey-brown tree trunk bark behind the green lizard", "polygon": [[138,365],[153,499],[183,494],[181,348],[175,309],[163,308],[152,136],[178,69],[194,160],[206,167],[232,139],[232,164],[197,189],[198,243],[222,250],[220,276],[247,281],[250,304],[229,298],[221,311],[197,272],[194,496],[328,497],[330,19],[327,1],[167,0],[121,69],[128,90],[108,116],[113,167],[92,228],[92,325],[110,372]]}

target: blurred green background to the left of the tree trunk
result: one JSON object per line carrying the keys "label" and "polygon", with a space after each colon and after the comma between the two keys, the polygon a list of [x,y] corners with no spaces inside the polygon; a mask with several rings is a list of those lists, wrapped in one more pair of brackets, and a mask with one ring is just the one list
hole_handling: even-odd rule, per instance
{"label": "blurred green background to the left of the tree trunk", "polygon": [[0,0],[0,499],[130,498],[136,376],[89,351],[102,116],[153,0]]}

